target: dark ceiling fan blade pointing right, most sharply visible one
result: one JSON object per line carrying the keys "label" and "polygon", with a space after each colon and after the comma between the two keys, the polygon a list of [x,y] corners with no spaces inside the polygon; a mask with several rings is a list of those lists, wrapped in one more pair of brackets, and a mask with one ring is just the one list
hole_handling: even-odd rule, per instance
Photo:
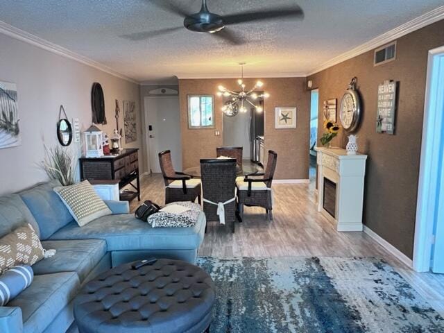
{"label": "dark ceiling fan blade pointing right, most sharply visible one", "polygon": [[252,10],[240,12],[222,17],[224,24],[239,24],[244,22],[263,21],[266,19],[276,19],[283,17],[304,18],[304,11],[299,6],[282,6],[269,10]]}

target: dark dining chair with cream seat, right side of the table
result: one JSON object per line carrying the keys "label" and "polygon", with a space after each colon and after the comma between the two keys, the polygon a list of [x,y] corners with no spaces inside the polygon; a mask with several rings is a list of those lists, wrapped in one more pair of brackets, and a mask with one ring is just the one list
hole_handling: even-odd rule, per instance
{"label": "dark dining chair with cream seat, right side of the table", "polygon": [[[276,169],[278,154],[268,151],[268,161],[264,173],[255,173],[255,178],[246,176],[244,180],[237,180],[237,210],[239,220],[242,221],[244,215],[244,205],[265,208],[268,219],[273,221],[273,192],[271,183]],[[263,176],[263,178],[256,178]]]}

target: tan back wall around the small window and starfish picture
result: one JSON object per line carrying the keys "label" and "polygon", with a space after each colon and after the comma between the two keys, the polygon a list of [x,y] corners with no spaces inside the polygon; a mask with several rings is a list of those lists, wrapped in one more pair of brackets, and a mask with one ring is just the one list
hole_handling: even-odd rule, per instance
{"label": "tan back wall around the small window and starfish picture", "polygon": [[[263,78],[264,91],[270,97],[264,102],[265,146],[278,153],[276,179],[308,178],[309,147],[309,93],[305,90],[305,78]],[[257,79],[245,79],[247,87],[253,87]],[[182,126],[182,159],[184,169],[199,164],[200,158],[215,157],[216,147],[223,145],[222,99],[214,96],[215,128],[189,130],[187,114],[188,94],[216,94],[217,87],[224,85],[236,90],[234,78],[179,80],[180,117]],[[297,128],[276,130],[274,114],[276,107],[296,106]],[[221,136],[214,131],[220,130]]]}

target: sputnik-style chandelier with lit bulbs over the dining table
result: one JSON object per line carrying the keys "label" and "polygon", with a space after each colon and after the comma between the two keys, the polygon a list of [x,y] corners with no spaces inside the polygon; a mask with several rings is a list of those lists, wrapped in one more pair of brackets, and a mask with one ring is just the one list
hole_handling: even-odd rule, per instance
{"label": "sputnik-style chandelier with lit bulbs over the dining table", "polygon": [[239,65],[241,66],[241,78],[237,80],[237,84],[241,89],[240,92],[233,92],[232,90],[223,87],[223,85],[219,85],[219,92],[217,92],[217,96],[225,96],[228,98],[228,101],[226,101],[221,108],[222,112],[228,117],[234,117],[239,112],[246,113],[247,112],[246,105],[253,106],[256,112],[263,112],[264,109],[262,108],[262,106],[256,105],[255,101],[257,101],[257,99],[264,99],[270,96],[267,93],[257,94],[257,92],[255,92],[257,88],[260,88],[264,85],[262,81],[257,81],[255,86],[250,90],[245,89],[246,88],[246,85],[244,83],[245,64],[246,64],[245,62],[239,63]]}

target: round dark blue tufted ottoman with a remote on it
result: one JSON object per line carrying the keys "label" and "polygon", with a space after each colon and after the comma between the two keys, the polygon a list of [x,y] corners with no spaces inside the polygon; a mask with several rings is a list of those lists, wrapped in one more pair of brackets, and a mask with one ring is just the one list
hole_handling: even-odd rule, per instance
{"label": "round dark blue tufted ottoman with a remote on it", "polygon": [[158,259],[110,269],[88,282],[74,300],[80,333],[203,333],[209,330],[214,282],[180,260]]}

